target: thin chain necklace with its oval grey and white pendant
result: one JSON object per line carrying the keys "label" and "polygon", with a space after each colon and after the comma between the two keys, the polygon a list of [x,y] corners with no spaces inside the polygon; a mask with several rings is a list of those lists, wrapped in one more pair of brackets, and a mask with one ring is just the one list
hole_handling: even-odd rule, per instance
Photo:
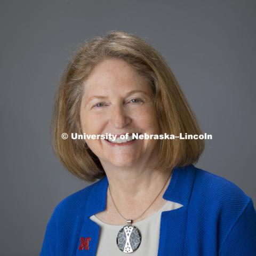
{"label": "thin chain necklace with its oval grey and white pendant", "polygon": [[112,199],[112,201],[114,203],[114,206],[115,206],[117,212],[127,222],[127,225],[125,225],[122,229],[119,230],[119,232],[117,234],[117,237],[116,237],[117,247],[122,252],[124,252],[124,253],[131,253],[131,252],[136,251],[139,248],[139,246],[141,244],[141,233],[140,233],[140,230],[137,227],[132,225],[132,222],[134,220],[139,219],[149,209],[149,207],[156,201],[156,198],[163,191],[163,189],[164,189],[166,183],[169,181],[171,175],[172,175],[172,172],[171,172],[169,178],[166,180],[166,182],[165,182],[163,188],[161,189],[161,191],[155,197],[154,201],[147,207],[147,209],[145,211],[142,212],[142,214],[140,214],[137,218],[134,218],[134,219],[126,219],[125,217],[123,217],[121,212],[118,211],[118,209],[116,207],[116,204],[115,204],[115,201],[114,201],[114,199],[113,199],[113,197],[111,195],[110,186],[108,186],[110,197],[111,197],[111,199]]}

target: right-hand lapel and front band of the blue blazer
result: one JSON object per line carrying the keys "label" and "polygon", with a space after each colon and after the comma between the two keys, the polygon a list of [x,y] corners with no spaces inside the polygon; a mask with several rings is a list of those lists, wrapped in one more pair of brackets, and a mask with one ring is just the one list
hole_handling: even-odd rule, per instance
{"label": "right-hand lapel and front band of the blue blazer", "polygon": [[163,198],[183,206],[175,210],[162,212],[158,256],[180,256],[184,253],[188,203],[194,178],[195,167],[193,165],[173,170],[170,185],[166,189]]}

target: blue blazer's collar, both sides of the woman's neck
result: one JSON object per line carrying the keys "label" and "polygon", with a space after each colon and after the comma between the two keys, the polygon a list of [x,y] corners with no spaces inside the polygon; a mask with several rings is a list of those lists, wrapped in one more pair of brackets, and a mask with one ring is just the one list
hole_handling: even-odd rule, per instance
{"label": "blue blazer's collar, both sides of the woman's neck", "polygon": [[[183,206],[187,205],[193,188],[195,173],[196,167],[192,164],[186,167],[174,168],[171,181],[163,194],[163,198],[182,204]],[[85,206],[86,217],[90,217],[106,209],[107,189],[107,176],[93,183],[91,193]]]}

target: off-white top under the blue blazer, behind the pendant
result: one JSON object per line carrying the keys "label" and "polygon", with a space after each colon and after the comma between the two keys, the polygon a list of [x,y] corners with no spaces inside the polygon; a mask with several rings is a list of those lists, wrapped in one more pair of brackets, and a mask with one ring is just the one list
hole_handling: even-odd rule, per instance
{"label": "off-white top under the blue blazer, behind the pendant", "polygon": [[161,213],[163,211],[175,210],[182,206],[183,205],[175,202],[166,201],[161,209],[150,215],[148,218],[134,222],[133,225],[136,226],[141,233],[141,244],[139,248],[131,254],[122,252],[116,244],[117,234],[125,225],[110,225],[102,222],[95,215],[92,215],[90,219],[101,227],[96,255],[125,256],[130,254],[132,256],[156,256],[160,234]]}

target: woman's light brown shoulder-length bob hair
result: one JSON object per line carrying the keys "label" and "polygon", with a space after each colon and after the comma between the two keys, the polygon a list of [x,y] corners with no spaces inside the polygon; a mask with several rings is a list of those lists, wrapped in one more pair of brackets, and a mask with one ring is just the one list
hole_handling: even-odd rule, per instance
{"label": "woman's light brown shoulder-length bob hair", "polygon": [[[123,31],[94,37],[80,46],[69,61],[55,94],[52,115],[55,154],[68,171],[90,182],[106,175],[99,158],[85,140],[63,140],[61,134],[83,134],[79,117],[83,84],[98,63],[111,58],[126,61],[150,82],[161,134],[202,133],[171,69],[151,45]],[[154,168],[172,170],[196,163],[203,150],[204,140],[160,140]]]}

